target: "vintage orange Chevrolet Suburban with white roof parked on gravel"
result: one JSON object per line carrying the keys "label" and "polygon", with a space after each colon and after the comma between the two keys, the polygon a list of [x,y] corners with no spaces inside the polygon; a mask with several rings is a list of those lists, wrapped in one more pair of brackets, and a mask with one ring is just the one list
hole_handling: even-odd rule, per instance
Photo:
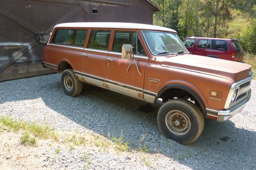
{"label": "vintage orange Chevrolet Suburban with white roof parked on gravel", "polygon": [[191,55],[177,32],[136,23],[61,23],[43,51],[42,65],[62,72],[67,95],[82,82],[162,106],[162,134],[182,144],[195,141],[204,118],[225,122],[251,95],[251,66]]}

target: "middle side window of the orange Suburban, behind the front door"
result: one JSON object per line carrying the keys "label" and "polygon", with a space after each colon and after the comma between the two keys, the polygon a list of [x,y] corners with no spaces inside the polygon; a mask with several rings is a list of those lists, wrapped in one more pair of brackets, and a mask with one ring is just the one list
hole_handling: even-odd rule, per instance
{"label": "middle side window of the orange Suburban, behind the front door", "polygon": [[110,35],[110,30],[92,30],[87,48],[108,50]]}

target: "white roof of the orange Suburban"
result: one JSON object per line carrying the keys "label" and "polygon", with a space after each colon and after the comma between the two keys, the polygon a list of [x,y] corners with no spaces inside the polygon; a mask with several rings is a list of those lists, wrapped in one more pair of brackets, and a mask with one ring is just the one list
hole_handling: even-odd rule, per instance
{"label": "white roof of the orange Suburban", "polygon": [[89,27],[89,28],[122,28],[122,29],[140,29],[140,30],[160,30],[175,32],[173,29],[153,26],[141,23],[127,23],[127,22],[71,22],[71,23],[60,23],[56,27]]}

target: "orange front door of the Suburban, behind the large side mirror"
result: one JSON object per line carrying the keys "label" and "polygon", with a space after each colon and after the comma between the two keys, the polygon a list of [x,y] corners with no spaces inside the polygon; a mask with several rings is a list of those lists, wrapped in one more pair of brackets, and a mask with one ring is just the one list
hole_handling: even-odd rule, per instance
{"label": "orange front door of the Suburban, behind the large side mirror", "polygon": [[[145,48],[140,39],[141,37],[136,30],[115,30],[111,51],[106,59],[105,82],[106,86],[113,91],[143,100],[144,72],[148,57],[145,55]],[[122,59],[123,44],[133,46],[135,60]]]}

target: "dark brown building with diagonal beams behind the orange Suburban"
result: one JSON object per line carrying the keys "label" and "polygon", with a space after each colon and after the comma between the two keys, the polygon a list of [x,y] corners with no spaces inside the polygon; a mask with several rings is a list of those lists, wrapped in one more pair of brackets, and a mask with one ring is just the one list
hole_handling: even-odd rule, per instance
{"label": "dark brown building with diagonal beams behind the orange Suburban", "polygon": [[0,81],[47,74],[42,48],[62,22],[153,23],[150,0],[1,0]]}

